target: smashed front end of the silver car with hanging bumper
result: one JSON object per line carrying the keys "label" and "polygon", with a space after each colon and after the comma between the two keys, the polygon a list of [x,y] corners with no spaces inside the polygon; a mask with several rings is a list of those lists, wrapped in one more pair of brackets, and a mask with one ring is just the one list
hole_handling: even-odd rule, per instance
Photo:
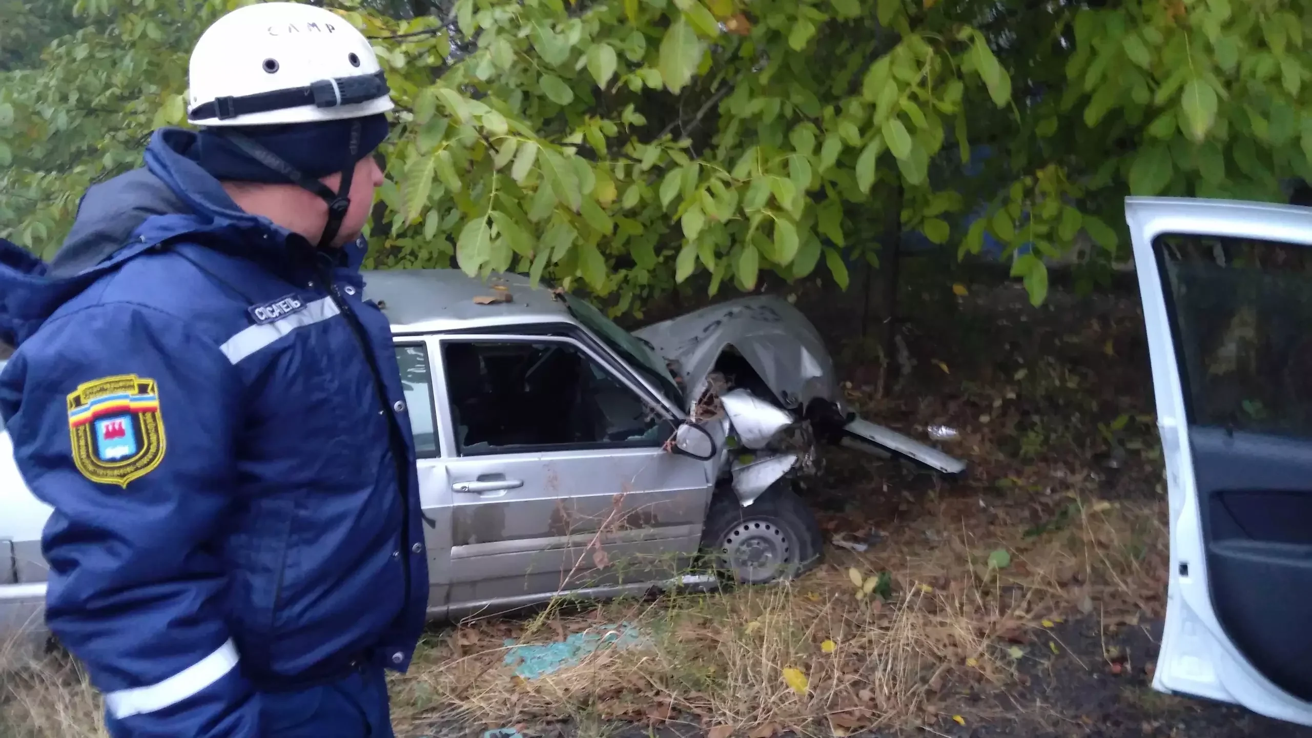
{"label": "smashed front end of the silver car with hanging bumper", "polygon": [[966,462],[858,418],[842,402],[815,326],[787,301],[748,297],[635,332],[664,356],[693,398],[687,411],[719,423],[726,470],[744,506],[789,474],[813,474],[823,444],[907,458],[945,474]]}

